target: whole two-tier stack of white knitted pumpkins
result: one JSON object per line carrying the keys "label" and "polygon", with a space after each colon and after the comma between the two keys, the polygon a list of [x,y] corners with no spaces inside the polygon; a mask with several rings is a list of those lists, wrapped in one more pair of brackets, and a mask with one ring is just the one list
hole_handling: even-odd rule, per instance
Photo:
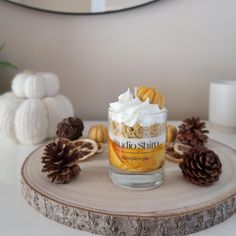
{"label": "whole two-tier stack of white knitted pumpkins", "polygon": [[58,93],[52,73],[25,71],[15,76],[13,92],[0,96],[0,133],[21,143],[54,137],[57,124],[74,115],[69,99]]}

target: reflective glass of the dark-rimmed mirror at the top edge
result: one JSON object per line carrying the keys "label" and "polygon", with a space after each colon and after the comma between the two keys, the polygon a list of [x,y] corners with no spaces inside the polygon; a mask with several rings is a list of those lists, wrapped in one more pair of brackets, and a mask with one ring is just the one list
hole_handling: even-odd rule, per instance
{"label": "reflective glass of the dark-rimmed mirror at the top edge", "polygon": [[8,0],[43,11],[68,14],[116,12],[143,6],[156,0]]}

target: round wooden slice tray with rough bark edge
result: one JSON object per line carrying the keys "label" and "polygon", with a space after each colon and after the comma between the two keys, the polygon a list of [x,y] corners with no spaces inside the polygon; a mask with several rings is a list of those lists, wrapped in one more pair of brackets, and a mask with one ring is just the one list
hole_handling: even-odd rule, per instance
{"label": "round wooden slice tray with rough bark edge", "polygon": [[46,217],[102,235],[184,235],[218,224],[236,212],[236,152],[209,141],[223,173],[211,187],[186,182],[177,164],[167,162],[160,188],[132,191],[108,177],[107,152],[81,163],[81,175],[67,185],[50,184],[41,174],[43,147],[22,167],[22,193]]}

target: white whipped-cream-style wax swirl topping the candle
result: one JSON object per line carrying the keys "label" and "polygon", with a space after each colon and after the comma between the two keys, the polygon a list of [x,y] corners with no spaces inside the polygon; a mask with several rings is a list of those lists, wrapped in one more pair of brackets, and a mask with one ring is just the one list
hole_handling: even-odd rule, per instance
{"label": "white whipped-cream-style wax swirl topping the candle", "polygon": [[[166,119],[166,109],[160,109],[158,104],[150,104],[149,98],[145,101],[141,101],[137,96],[134,96],[130,89],[118,97],[118,101],[110,103],[111,120],[122,122],[129,127],[133,127],[136,123],[142,126],[150,126],[156,122],[152,117],[145,115],[160,113],[163,111],[163,115],[159,116],[159,119]],[[140,116],[143,115],[143,116]]]}

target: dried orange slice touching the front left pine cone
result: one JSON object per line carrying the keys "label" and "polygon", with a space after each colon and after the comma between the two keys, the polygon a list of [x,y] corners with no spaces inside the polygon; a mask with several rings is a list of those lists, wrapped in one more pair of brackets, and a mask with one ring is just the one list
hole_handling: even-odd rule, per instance
{"label": "dried orange slice touching the front left pine cone", "polygon": [[98,151],[95,141],[87,138],[78,139],[72,142],[79,155],[79,161],[83,161],[93,156]]}

